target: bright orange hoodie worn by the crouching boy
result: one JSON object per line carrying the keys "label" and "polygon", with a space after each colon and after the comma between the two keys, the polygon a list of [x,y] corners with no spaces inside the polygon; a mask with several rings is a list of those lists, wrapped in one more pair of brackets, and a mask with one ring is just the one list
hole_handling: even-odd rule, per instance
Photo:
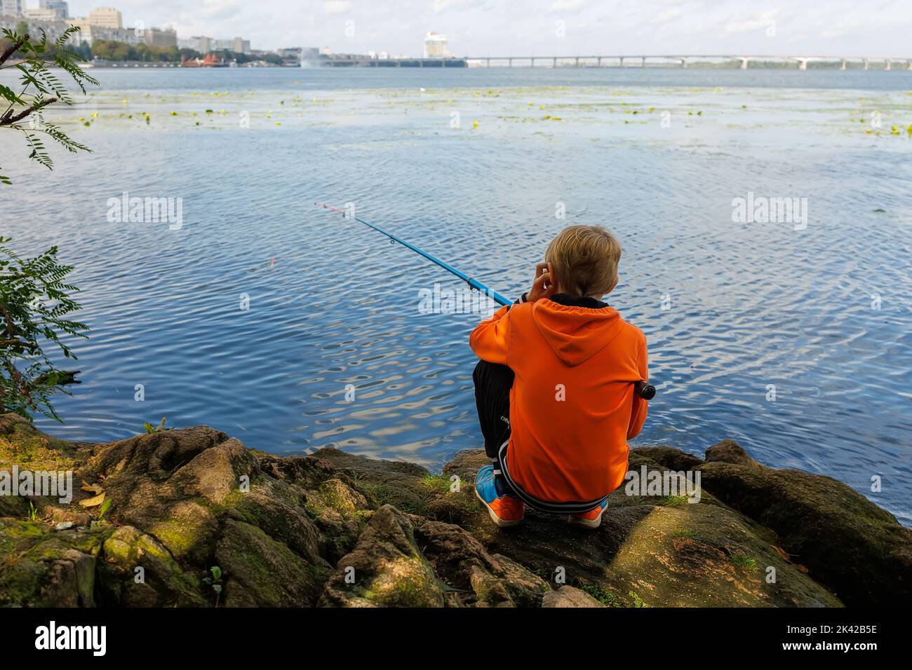
{"label": "bright orange hoodie worn by the crouching boy", "polygon": [[[503,307],[472,331],[482,360],[509,366],[507,469],[540,500],[596,500],[627,472],[627,439],[646,420],[633,383],[648,379],[646,336],[613,308],[578,299]],[[590,301],[596,304],[596,301]],[[569,304],[561,304],[569,303]]]}

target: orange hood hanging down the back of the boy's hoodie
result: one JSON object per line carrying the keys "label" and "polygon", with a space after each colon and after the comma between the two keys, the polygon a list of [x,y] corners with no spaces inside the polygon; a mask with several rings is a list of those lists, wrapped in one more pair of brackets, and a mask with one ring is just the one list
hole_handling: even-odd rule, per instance
{"label": "orange hood hanging down the back of the boy's hoodie", "polygon": [[[555,296],[556,297],[556,296]],[[617,310],[536,300],[532,320],[545,342],[567,366],[578,366],[611,344],[624,328]]]}

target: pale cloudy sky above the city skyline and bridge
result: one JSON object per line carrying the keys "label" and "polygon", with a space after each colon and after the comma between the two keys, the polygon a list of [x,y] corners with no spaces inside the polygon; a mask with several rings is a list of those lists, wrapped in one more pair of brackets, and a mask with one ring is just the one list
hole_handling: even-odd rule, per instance
{"label": "pale cloudy sky above the city skyline and bridge", "polygon": [[96,6],[261,49],[420,56],[435,31],[468,57],[912,57],[912,0],[69,0],[70,15]]}

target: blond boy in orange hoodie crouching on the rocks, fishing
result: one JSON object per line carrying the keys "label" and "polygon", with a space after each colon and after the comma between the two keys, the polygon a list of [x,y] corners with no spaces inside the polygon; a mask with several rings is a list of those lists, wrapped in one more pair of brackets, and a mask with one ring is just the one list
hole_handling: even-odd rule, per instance
{"label": "blond boy in orange hoodie crouching on the rocks, fishing", "polygon": [[621,246],[599,226],[548,245],[532,289],[472,331],[475,402],[492,465],[475,494],[501,527],[525,503],[597,528],[627,473],[627,439],[646,420],[646,337],[601,301],[617,286]]}

